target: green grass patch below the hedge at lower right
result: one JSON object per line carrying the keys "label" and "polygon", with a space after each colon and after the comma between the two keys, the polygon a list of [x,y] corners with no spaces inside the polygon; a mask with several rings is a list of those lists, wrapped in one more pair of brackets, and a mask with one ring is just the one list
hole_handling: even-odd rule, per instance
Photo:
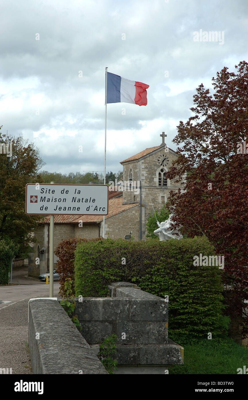
{"label": "green grass patch below the hedge at lower right", "polygon": [[248,366],[248,346],[240,346],[230,338],[202,339],[182,344],[184,365],[168,367],[169,374],[237,374]]}

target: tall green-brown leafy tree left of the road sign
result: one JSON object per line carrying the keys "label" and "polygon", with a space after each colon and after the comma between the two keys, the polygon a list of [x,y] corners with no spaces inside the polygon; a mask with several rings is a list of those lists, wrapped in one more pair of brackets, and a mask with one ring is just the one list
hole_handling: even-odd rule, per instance
{"label": "tall green-brown leafy tree left of the road sign", "polygon": [[25,212],[26,184],[41,182],[38,170],[44,163],[39,150],[22,136],[14,138],[0,131],[0,145],[8,148],[0,153],[0,240],[12,241],[19,246],[15,255],[25,257],[33,241],[31,232],[41,219]]}

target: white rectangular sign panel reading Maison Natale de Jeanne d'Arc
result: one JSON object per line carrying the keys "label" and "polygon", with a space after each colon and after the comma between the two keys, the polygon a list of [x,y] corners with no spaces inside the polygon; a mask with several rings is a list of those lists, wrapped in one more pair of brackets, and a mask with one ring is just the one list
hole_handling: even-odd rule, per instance
{"label": "white rectangular sign panel reading Maison Natale de Jeanne d'Arc", "polygon": [[108,214],[108,185],[26,185],[26,214]]}

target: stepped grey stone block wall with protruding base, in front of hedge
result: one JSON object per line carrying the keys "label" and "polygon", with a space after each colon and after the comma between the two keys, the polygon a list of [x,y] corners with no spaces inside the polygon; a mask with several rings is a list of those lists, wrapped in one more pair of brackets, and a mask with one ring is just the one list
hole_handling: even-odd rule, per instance
{"label": "stepped grey stone block wall with protruding base, in front of hedge", "polygon": [[168,339],[168,302],[129,282],[108,288],[112,297],[75,299],[81,333],[92,348],[115,334],[118,365],[183,364],[183,348]]}

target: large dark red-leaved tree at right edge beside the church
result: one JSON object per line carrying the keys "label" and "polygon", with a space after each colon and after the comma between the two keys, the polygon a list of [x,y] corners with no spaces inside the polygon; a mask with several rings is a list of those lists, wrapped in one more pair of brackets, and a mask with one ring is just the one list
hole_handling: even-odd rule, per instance
{"label": "large dark red-leaved tree at right edge beside the church", "polygon": [[[248,332],[248,63],[224,67],[193,96],[193,115],[180,121],[173,140],[179,157],[168,173],[186,192],[171,192],[173,218],[188,237],[206,235],[224,255],[227,315],[243,314]],[[230,296],[231,294],[231,296]],[[241,306],[240,306],[241,305]],[[243,308],[243,310],[242,310]]]}

